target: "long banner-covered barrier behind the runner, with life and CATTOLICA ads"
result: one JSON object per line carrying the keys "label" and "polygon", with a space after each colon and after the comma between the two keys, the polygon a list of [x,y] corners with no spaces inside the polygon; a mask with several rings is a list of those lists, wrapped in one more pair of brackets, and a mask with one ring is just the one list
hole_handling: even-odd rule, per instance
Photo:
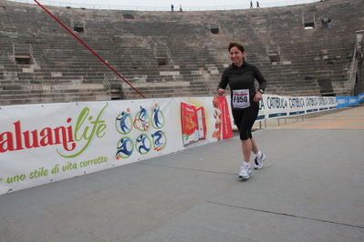
{"label": "long banner-covered barrier behind the runner, with life and CATTOLICA ads", "polygon": [[[344,106],[355,97],[264,95],[257,120]],[[229,96],[0,107],[0,195],[233,137]]]}

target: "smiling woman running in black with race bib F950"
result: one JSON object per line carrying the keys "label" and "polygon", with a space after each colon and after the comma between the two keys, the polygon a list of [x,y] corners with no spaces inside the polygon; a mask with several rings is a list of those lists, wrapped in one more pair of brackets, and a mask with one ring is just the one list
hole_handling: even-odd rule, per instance
{"label": "smiling woman running in black with race bib F950", "polygon": [[[244,156],[239,177],[247,179],[252,174],[250,155],[255,153],[255,169],[261,169],[265,161],[263,154],[256,146],[252,136],[252,127],[259,112],[259,101],[265,92],[266,80],[259,69],[244,59],[244,45],[232,42],[228,47],[233,64],[224,70],[217,95],[223,96],[227,85],[231,90],[231,106],[235,124],[239,130]],[[255,91],[255,80],[259,83]]]}

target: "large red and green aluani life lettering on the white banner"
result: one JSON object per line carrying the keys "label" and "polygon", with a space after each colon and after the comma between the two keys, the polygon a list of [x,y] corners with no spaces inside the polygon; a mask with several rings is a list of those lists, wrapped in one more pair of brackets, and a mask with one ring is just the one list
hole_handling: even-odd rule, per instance
{"label": "large red and green aluani life lettering on the white banner", "polygon": [[[44,127],[30,131],[23,130],[22,122],[16,121],[13,123],[14,131],[0,134],[0,153],[61,145],[62,148],[57,148],[59,156],[79,156],[96,138],[105,136],[107,126],[102,116],[107,107],[108,105],[104,106],[97,116],[93,116],[90,109],[84,107],[74,126]],[[68,117],[66,123],[71,124],[72,118]]]}

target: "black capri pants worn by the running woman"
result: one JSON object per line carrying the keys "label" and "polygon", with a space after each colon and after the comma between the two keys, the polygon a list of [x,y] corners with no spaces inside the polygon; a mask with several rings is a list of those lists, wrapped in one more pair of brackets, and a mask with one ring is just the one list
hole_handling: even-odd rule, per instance
{"label": "black capri pants worn by the running woman", "polygon": [[244,109],[232,109],[235,125],[237,126],[240,139],[247,140],[252,138],[252,127],[259,113],[258,103]]}

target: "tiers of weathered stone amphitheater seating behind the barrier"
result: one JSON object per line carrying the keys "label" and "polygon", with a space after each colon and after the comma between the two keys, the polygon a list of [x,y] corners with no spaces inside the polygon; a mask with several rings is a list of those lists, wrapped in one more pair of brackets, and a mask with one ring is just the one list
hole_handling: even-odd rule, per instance
{"label": "tiers of weathered stone amphitheater seating behind the barrier", "polygon": [[[45,7],[71,31],[80,26],[75,35],[143,96],[157,98],[214,96],[231,41],[244,43],[267,93],[351,96],[362,5],[327,0],[182,13]],[[321,28],[326,15],[330,29]],[[38,5],[0,1],[0,19],[0,105],[141,98]]]}

